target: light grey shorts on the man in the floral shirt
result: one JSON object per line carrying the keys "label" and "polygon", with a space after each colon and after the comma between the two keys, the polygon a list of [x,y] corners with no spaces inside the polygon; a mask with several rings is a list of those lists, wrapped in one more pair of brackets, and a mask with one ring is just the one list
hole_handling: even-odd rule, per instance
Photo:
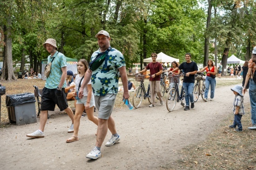
{"label": "light grey shorts on the man in the floral shirt", "polygon": [[116,94],[94,96],[96,108],[99,110],[98,118],[108,120],[115,104]]}

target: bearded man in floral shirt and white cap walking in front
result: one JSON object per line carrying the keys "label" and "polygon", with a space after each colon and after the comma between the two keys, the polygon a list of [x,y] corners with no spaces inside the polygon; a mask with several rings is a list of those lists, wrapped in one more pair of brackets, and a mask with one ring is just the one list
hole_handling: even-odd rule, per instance
{"label": "bearded man in floral shirt and white cap walking in front", "polygon": [[86,156],[89,159],[101,157],[101,145],[107,135],[108,129],[112,133],[112,136],[105,144],[106,146],[112,146],[120,140],[119,134],[115,129],[115,121],[111,115],[118,92],[119,72],[123,82],[123,99],[128,100],[130,97],[128,93],[126,65],[122,53],[110,47],[110,37],[107,31],[101,30],[95,37],[98,39],[100,48],[93,53],[91,61],[97,56],[105,55],[103,59],[105,62],[101,63],[99,67],[97,64],[95,67],[90,64],[90,69],[86,71],[84,81],[79,90],[79,98],[82,98],[83,89],[91,79],[95,105],[99,111],[96,144],[93,150]]}

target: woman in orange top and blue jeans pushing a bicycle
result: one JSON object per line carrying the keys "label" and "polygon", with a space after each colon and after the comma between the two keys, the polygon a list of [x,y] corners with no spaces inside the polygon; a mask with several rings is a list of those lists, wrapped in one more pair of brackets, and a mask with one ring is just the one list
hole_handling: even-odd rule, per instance
{"label": "woman in orange top and blue jeans pushing a bicycle", "polygon": [[206,78],[205,78],[205,92],[204,92],[204,99],[203,101],[207,101],[208,98],[208,92],[209,88],[211,86],[211,95],[210,95],[210,101],[213,101],[214,98],[214,92],[215,92],[215,86],[216,86],[216,80],[215,78],[211,77],[211,75],[217,74],[217,68],[214,66],[213,61],[211,59],[208,60],[208,66],[204,67],[200,71],[197,71],[198,73],[202,73],[204,70],[206,70]]}

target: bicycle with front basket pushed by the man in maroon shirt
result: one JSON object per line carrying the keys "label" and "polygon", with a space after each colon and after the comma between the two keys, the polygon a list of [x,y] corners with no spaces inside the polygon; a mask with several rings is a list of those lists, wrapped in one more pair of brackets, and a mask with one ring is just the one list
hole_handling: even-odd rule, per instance
{"label": "bicycle with front basket pushed by the man in maroon shirt", "polygon": [[[150,75],[149,75],[150,76]],[[140,107],[141,103],[142,103],[142,99],[147,99],[149,103],[152,103],[151,101],[151,96],[150,96],[150,86],[148,84],[148,90],[146,92],[145,86],[144,86],[144,78],[145,75],[140,75],[140,74],[136,74],[135,75],[135,81],[137,82],[141,82],[141,85],[139,85],[133,94],[133,106],[135,108]]]}

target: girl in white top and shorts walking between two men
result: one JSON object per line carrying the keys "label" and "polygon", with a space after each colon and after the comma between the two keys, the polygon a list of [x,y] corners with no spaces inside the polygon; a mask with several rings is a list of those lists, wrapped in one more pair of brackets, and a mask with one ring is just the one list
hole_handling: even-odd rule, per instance
{"label": "girl in white top and shorts walking between two men", "polygon": [[[75,87],[76,92],[79,91],[79,88],[81,87],[81,84],[83,83],[85,72],[88,69],[88,63],[85,59],[81,59],[77,63],[77,69],[79,74],[75,77]],[[76,96],[76,107],[75,107],[75,113],[74,113],[74,133],[71,138],[67,139],[66,142],[74,142],[79,140],[78,139],[78,129],[80,125],[80,119],[81,115],[83,113],[83,110],[86,110],[88,119],[94,122],[98,126],[98,118],[94,116],[94,107],[95,107],[95,101],[94,101],[94,94],[93,94],[93,88],[90,82],[88,82],[87,87],[84,88],[83,91],[83,98],[79,99],[77,98],[77,93],[74,93],[74,96]]]}

